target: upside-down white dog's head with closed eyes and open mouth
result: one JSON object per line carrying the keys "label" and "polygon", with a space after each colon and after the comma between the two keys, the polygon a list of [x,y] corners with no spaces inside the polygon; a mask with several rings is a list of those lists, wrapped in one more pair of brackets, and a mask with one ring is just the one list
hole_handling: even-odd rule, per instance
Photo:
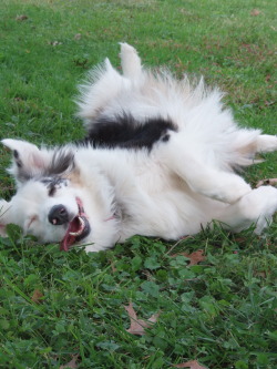
{"label": "upside-down white dog's head with closed eyes and open mouth", "polygon": [[91,226],[85,214],[82,193],[72,183],[78,171],[71,148],[39,150],[18,140],[3,140],[12,151],[10,174],[17,194],[10,203],[0,201],[0,232],[7,224],[23,228],[42,243],[61,243],[62,249],[84,240]]}

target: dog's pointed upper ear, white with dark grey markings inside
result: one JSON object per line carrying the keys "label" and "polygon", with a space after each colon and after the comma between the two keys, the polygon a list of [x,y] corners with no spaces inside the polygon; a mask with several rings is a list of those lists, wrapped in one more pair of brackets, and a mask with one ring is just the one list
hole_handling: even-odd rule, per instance
{"label": "dog's pointed upper ear, white with dark grey markings inside", "polygon": [[6,139],[2,140],[2,144],[12,151],[12,165],[8,171],[14,176],[18,185],[45,171],[49,163],[45,151],[20,140]]}

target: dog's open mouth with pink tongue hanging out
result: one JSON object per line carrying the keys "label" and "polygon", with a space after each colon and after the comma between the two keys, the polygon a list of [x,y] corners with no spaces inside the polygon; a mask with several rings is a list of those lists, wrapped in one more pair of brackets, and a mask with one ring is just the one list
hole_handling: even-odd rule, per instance
{"label": "dog's open mouth with pink tongue hanging out", "polygon": [[68,252],[70,246],[82,240],[91,232],[88,216],[84,213],[82,201],[76,197],[79,214],[70,222],[65,236],[61,240],[60,249]]}

